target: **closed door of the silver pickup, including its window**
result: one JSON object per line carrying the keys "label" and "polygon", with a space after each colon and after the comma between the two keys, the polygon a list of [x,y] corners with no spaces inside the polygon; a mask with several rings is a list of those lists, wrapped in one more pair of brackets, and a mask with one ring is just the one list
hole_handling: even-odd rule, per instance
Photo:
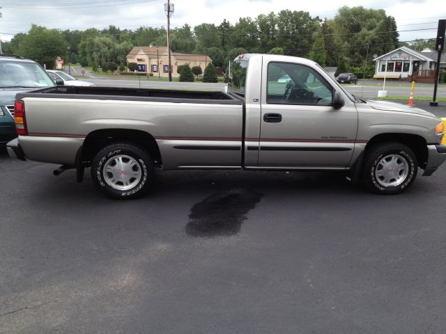
{"label": "closed door of the silver pickup, including its window", "polygon": [[357,134],[354,103],[344,97],[334,108],[333,86],[304,64],[263,61],[263,73],[258,166],[346,168]]}

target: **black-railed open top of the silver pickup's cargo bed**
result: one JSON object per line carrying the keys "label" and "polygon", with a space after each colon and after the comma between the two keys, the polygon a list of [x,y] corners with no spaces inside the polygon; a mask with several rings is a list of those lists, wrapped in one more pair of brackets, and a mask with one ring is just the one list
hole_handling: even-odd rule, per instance
{"label": "black-railed open top of the silver pickup's cargo bed", "polygon": [[153,88],[54,86],[17,94],[24,97],[45,97],[88,100],[132,100],[177,103],[241,104],[231,93],[206,90],[169,90]]}

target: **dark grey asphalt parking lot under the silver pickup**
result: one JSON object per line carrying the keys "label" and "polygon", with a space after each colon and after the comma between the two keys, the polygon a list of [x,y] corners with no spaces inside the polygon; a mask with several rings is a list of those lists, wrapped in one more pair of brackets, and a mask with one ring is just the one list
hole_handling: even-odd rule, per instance
{"label": "dark grey asphalt parking lot under the silver pickup", "polygon": [[0,333],[445,333],[446,166],[399,196],[159,171],[118,201],[0,151]]}

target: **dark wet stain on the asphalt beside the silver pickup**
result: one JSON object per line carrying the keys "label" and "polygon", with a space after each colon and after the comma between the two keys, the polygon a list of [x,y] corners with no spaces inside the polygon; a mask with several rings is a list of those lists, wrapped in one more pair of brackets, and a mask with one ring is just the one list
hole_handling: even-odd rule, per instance
{"label": "dark wet stain on the asphalt beside the silver pickup", "polygon": [[242,188],[215,193],[192,207],[186,232],[193,237],[237,234],[262,196]]}

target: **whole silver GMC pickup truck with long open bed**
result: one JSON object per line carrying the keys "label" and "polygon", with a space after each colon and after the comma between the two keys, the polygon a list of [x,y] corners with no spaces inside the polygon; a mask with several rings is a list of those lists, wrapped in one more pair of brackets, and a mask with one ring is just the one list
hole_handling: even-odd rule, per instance
{"label": "whole silver GMC pickup truck with long open bed", "polygon": [[345,170],[371,191],[401,193],[446,157],[443,122],[357,99],[303,58],[246,54],[228,92],[56,86],[19,93],[11,157],[91,167],[113,198],[146,191],[164,169]]}

